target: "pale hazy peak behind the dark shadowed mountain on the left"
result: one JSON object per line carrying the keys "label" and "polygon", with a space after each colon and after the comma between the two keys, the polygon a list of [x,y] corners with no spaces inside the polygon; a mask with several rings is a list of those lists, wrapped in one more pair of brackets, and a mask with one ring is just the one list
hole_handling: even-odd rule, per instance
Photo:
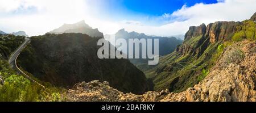
{"label": "pale hazy peak behind the dark shadowed mountain on the left", "polygon": [[50,31],[51,34],[63,34],[63,33],[81,33],[87,34],[91,37],[104,37],[102,32],[98,29],[93,29],[84,20],[74,23],[74,24],[63,24],[63,26]]}

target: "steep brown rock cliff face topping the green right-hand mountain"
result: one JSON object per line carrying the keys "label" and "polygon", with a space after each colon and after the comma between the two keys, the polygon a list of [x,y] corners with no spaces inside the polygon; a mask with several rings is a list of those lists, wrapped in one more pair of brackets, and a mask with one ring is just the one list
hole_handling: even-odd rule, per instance
{"label": "steep brown rock cliff face topping the green right-hand mountain", "polygon": [[230,40],[231,36],[238,31],[237,26],[240,24],[240,22],[215,22],[207,26],[201,24],[198,27],[189,27],[183,45],[176,51],[183,55],[189,53],[199,57],[208,45]]}

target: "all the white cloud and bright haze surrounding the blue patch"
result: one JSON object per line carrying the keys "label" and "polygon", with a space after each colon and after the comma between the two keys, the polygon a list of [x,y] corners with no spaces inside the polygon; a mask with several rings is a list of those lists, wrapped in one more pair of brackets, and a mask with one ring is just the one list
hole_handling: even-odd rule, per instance
{"label": "all the white cloud and bright haze surrounding the blue patch", "polygon": [[[101,17],[101,14],[98,14],[100,8],[88,5],[83,0],[0,0],[0,30],[22,30],[30,36],[43,35],[63,23],[75,23],[84,19],[89,26],[98,28],[104,34],[114,34],[125,28],[127,31],[144,32],[148,35],[171,36],[185,34],[189,26],[199,26],[201,23],[249,19],[256,11],[255,6],[255,0],[219,0],[219,3],[210,5],[199,3],[191,7],[183,6],[172,14],[166,13],[159,17],[171,19],[171,23],[150,26],[144,24],[147,22],[137,20],[124,19],[116,22],[111,20],[111,15]],[[34,7],[32,10],[35,11],[26,13],[31,7]],[[95,11],[97,8],[99,11]]]}

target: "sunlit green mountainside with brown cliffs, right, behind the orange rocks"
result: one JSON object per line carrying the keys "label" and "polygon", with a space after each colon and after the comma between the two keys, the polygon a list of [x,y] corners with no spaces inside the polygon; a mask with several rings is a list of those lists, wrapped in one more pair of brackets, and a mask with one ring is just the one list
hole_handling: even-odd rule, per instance
{"label": "sunlit green mountainside with brown cliffs, right, behind the orange rocks", "polygon": [[[155,90],[184,91],[208,75],[230,44],[245,39],[255,40],[255,31],[255,22],[251,19],[189,27],[183,44],[144,73],[154,82]],[[235,54],[240,55],[240,52]]]}

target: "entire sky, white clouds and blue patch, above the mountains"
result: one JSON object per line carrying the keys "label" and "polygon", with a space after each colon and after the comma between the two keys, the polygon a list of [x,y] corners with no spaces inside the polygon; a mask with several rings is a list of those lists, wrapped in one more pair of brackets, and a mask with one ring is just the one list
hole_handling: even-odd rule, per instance
{"label": "entire sky, white clouds and blue patch, above the mountains", "polygon": [[173,36],[202,23],[249,19],[255,6],[255,0],[0,0],[0,30],[44,35],[85,20],[104,34],[125,28]]}

